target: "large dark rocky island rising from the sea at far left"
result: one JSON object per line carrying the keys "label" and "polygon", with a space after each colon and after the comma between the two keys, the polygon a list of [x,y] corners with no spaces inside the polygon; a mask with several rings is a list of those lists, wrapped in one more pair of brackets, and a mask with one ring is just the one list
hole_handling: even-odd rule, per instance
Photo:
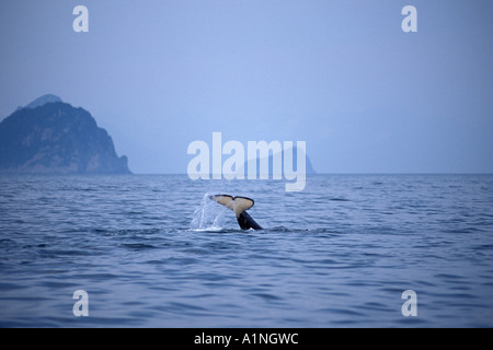
{"label": "large dark rocky island rising from the sea at far left", "polygon": [[0,122],[0,172],[129,174],[89,112],[44,95]]}

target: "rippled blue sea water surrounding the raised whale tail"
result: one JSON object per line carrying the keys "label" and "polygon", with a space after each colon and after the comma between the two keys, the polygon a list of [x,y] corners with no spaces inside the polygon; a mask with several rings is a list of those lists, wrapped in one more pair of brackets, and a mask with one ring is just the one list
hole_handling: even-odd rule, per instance
{"label": "rippled blue sea water surrounding the raised whale tail", "polygon": [[493,176],[2,176],[0,326],[492,327]]}

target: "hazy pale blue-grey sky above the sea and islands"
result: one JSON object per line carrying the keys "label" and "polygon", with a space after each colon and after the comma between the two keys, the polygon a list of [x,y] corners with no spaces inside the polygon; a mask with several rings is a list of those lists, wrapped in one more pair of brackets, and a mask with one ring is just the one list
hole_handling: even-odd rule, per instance
{"label": "hazy pale blue-grey sky above the sea and islands", "polygon": [[319,173],[492,173],[492,14],[491,0],[2,0],[0,118],[56,94],[135,173],[186,173],[213,131],[306,141]]}

